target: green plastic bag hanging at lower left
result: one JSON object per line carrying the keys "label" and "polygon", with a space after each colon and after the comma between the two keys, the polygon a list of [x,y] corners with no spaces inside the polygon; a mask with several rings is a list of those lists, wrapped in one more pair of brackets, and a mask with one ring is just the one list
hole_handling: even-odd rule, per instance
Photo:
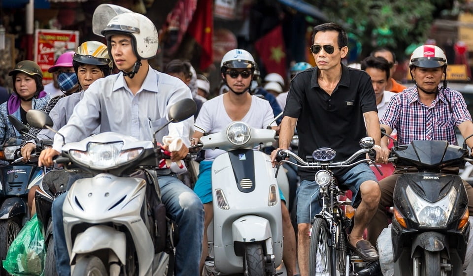
{"label": "green plastic bag hanging at lower left", "polygon": [[40,221],[35,215],[25,224],[11,243],[3,260],[3,268],[15,276],[42,276],[46,246]]}

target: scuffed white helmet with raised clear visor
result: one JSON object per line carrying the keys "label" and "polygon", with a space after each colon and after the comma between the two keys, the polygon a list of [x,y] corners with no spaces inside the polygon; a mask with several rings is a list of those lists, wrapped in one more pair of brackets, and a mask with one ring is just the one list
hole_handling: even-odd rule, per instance
{"label": "scuffed white helmet with raised clear visor", "polygon": [[[140,60],[149,60],[158,51],[158,31],[153,22],[139,13],[122,13],[113,17],[101,31],[107,41],[112,34],[128,34],[132,37],[135,55]],[[109,42],[107,42],[109,43]]]}

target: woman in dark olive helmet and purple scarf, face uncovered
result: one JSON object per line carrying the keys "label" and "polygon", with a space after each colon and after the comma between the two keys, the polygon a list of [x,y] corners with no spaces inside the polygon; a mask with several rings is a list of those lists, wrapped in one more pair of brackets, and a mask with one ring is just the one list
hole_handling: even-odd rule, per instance
{"label": "woman in dark olive helmet and purple scarf, face uncovered", "polygon": [[21,136],[8,120],[9,114],[28,125],[26,113],[41,109],[49,101],[49,95],[43,91],[43,74],[34,61],[18,62],[8,75],[13,79],[13,94],[0,105],[0,143]]}

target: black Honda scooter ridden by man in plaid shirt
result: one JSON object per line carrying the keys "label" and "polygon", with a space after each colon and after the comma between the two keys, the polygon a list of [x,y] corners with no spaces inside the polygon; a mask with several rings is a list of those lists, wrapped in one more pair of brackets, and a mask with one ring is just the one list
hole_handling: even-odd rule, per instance
{"label": "black Honda scooter ridden by man in plaid shirt", "polygon": [[468,196],[461,178],[442,169],[463,167],[473,161],[468,154],[465,143],[395,143],[389,160],[416,171],[400,175],[393,193],[394,275],[462,275],[470,231]]}

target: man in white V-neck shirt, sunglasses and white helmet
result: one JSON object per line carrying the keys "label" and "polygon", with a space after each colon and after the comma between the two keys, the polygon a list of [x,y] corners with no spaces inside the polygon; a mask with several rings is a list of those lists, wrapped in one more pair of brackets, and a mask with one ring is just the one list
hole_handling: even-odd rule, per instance
{"label": "man in white V-neck shirt, sunglasses and white helmet", "polygon": [[[199,139],[203,136],[201,128],[211,134],[222,131],[234,121],[242,121],[255,128],[266,128],[273,122],[274,116],[269,102],[247,93],[251,86],[255,64],[253,56],[245,50],[234,49],[225,54],[220,65],[221,75],[230,91],[203,103],[201,112],[196,120],[196,126],[199,126],[199,128],[194,132],[193,144],[198,144]],[[275,128],[276,124],[273,122],[271,126]],[[204,245],[207,242],[207,227],[213,218],[212,162],[222,153],[224,151],[219,149],[205,151],[205,159],[199,167],[199,179],[194,187],[194,191],[201,198],[205,209]],[[281,200],[284,200],[282,193],[280,195]],[[284,236],[283,261],[288,276],[293,276],[297,273],[296,238],[289,212],[284,204],[281,205],[281,208]],[[207,256],[207,250],[207,246],[203,246],[201,271]]]}

